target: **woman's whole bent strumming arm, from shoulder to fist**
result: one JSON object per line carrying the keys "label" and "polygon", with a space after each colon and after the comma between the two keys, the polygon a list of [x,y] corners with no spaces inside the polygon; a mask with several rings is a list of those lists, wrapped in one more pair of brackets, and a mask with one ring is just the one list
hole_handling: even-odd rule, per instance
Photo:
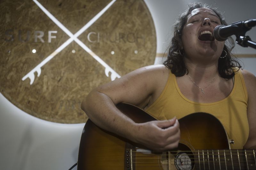
{"label": "woman's whole bent strumming arm, from shoulder to fist", "polygon": [[[163,65],[132,71],[90,92],[81,108],[99,127],[116,133],[155,151],[176,148],[180,130],[176,118],[166,121],[135,123],[116,108],[120,102],[145,107],[164,89],[169,70]],[[134,113],[136,114],[136,113]]]}

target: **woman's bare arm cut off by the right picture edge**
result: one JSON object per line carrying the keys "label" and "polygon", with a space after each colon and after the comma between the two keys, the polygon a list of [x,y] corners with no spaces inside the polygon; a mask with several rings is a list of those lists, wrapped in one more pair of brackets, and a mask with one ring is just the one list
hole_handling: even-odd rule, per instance
{"label": "woman's bare arm cut off by the right picture edge", "polygon": [[247,117],[249,123],[249,137],[244,149],[256,149],[256,77],[249,71],[242,71],[248,92]]}

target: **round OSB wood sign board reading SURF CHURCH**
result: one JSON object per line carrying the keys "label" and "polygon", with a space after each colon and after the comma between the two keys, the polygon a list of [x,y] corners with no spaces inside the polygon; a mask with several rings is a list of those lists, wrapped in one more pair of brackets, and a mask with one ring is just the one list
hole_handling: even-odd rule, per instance
{"label": "round OSB wood sign board reading SURF CHURCH", "polygon": [[[39,0],[60,23],[75,34],[110,0]],[[41,67],[30,85],[21,79],[69,39],[32,0],[0,2],[0,90],[30,115],[52,122],[82,123],[80,104],[95,87],[111,81],[105,67],[71,42]],[[35,31],[44,33],[35,42]],[[52,34],[48,42],[48,31]],[[88,40],[88,34],[92,34]],[[120,76],[154,63],[156,32],[143,0],[117,0],[78,39]],[[32,49],[37,52],[32,53]],[[75,50],[75,53],[72,53]],[[112,55],[111,51],[115,54]],[[134,51],[138,51],[137,54]]]}

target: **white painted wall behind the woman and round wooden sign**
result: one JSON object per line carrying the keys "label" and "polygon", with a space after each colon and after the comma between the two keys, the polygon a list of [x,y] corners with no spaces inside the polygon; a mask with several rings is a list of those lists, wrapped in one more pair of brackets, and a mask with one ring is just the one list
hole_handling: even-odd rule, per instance
{"label": "white painted wall behind the woman and round wooden sign", "polygon": [[[172,35],[172,24],[187,0],[145,0],[157,35],[157,53],[164,53]],[[255,0],[201,0],[225,11],[228,23],[256,18]],[[250,32],[256,41],[256,27]],[[236,48],[238,54],[256,54],[252,48]],[[242,58],[244,68],[256,75],[256,58]],[[158,62],[158,61],[157,61]],[[83,124],[47,122],[15,107],[0,94],[0,169],[64,170],[77,161]],[[76,167],[74,168],[76,169]]]}

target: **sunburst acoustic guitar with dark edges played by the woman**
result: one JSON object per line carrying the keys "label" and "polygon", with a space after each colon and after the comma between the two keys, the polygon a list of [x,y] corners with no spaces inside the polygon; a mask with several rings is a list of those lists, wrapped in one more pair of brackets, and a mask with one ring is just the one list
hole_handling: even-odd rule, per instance
{"label": "sunburst acoustic guitar with dark edges played by the woman", "polygon": [[[134,122],[156,120],[139,107],[130,104],[121,103],[117,107]],[[81,136],[77,169],[256,169],[256,151],[230,150],[227,133],[214,116],[194,113],[181,118],[179,123],[181,134],[178,149],[153,152],[99,128],[88,119]]]}

